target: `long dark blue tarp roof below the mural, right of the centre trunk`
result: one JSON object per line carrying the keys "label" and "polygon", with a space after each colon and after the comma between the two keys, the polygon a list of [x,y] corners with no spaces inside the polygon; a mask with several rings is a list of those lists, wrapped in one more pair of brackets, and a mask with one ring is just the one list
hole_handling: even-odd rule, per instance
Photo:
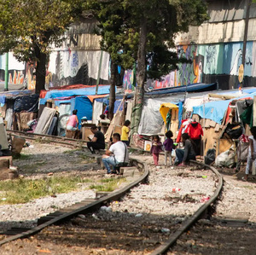
{"label": "long dark blue tarp roof below the mural, right of the centre trunk", "polygon": [[189,84],[187,86],[179,86],[172,88],[165,88],[154,90],[151,92],[145,93],[146,95],[163,95],[163,94],[171,94],[171,93],[180,93],[180,92],[194,92],[194,91],[209,91],[216,90],[217,84]]}

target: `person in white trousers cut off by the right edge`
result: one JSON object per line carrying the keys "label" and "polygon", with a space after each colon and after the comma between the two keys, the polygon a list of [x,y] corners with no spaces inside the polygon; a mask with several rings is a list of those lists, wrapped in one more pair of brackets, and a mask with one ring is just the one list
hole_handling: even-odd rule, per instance
{"label": "person in white trousers cut off by the right edge", "polygon": [[[247,181],[249,172],[252,168],[253,161],[256,159],[256,126],[251,128],[251,133],[253,136],[249,136],[249,149],[248,149],[248,156],[247,156],[247,167],[246,167],[246,176],[242,177],[242,181]],[[254,161],[256,166],[256,160]]]}

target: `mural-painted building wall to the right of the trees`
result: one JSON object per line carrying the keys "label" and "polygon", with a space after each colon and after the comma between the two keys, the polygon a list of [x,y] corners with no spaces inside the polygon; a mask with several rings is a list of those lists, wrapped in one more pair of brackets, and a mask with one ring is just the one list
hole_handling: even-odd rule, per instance
{"label": "mural-painted building wall to the right of the trees", "polygon": [[[241,65],[246,17],[246,0],[208,1],[210,19],[201,26],[191,26],[189,32],[178,34],[177,55],[192,64],[180,64],[178,70],[162,81],[148,81],[155,89],[218,81],[220,89],[238,88],[238,68]],[[250,9],[243,86],[256,83],[256,3]]]}

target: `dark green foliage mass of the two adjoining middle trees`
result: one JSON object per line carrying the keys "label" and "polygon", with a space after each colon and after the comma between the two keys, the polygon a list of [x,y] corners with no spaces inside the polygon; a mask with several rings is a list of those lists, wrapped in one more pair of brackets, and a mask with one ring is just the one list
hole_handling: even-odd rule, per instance
{"label": "dark green foliage mass of the two adjoining middle trees", "polygon": [[125,69],[141,57],[139,39],[144,36],[142,20],[146,22],[148,78],[160,78],[177,69],[177,62],[185,60],[177,60],[177,54],[169,50],[175,47],[175,36],[208,19],[203,0],[87,0],[84,8],[99,21],[102,49]]}

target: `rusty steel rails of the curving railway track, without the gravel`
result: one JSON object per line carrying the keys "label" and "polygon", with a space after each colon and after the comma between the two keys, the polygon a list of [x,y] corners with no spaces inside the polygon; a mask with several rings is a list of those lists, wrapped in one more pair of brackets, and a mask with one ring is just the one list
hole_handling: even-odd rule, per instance
{"label": "rusty steel rails of the curving railway track, without the gravel", "polygon": [[[9,134],[18,135],[18,136],[22,135],[22,136],[26,137],[26,133],[24,133],[24,132],[20,133],[20,132],[16,132],[16,131],[15,132],[9,131]],[[39,137],[44,137],[44,136],[41,135]],[[59,139],[61,143],[63,142],[63,141],[61,141],[62,139],[56,138],[55,136],[46,136],[46,137],[47,137],[47,139],[49,139],[49,141],[58,142],[58,139]],[[38,139],[38,136],[35,134],[33,136],[31,134],[29,134],[29,136],[27,138],[28,139],[31,139],[31,138]],[[67,139],[67,143],[69,143],[69,142],[75,143],[76,140]],[[10,233],[10,234],[16,234],[19,231],[21,231],[21,233],[17,233],[16,235],[9,236],[8,238],[4,239],[3,241],[0,241],[0,246],[8,243],[9,241],[14,241],[16,239],[26,238],[28,236],[35,235],[39,231],[41,231],[42,229],[44,229],[50,225],[67,222],[68,220],[70,220],[73,217],[78,216],[79,214],[95,212],[102,205],[109,204],[111,201],[120,200],[122,197],[124,197],[125,194],[127,194],[127,192],[129,192],[131,190],[131,188],[134,188],[135,186],[137,186],[138,183],[145,182],[148,178],[148,173],[149,173],[148,165],[145,162],[142,162],[138,159],[132,159],[131,162],[133,165],[136,165],[137,168],[139,168],[139,170],[141,172],[143,172],[142,176],[137,178],[137,180],[134,181],[133,183],[130,183],[125,188],[121,188],[120,190],[115,191],[111,194],[108,194],[107,196],[104,196],[98,200],[84,200],[76,205],[69,206],[68,208],[65,208],[64,210],[51,213],[46,217],[42,217],[42,218],[38,219],[38,226],[34,229],[13,229],[13,233]],[[219,196],[222,186],[223,186],[222,176],[212,166],[204,165],[204,164],[196,162],[196,161],[193,161],[193,164],[199,165],[200,167],[204,167],[204,168],[211,170],[214,173],[214,175],[216,176],[216,178],[218,179],[218,181],[217,181],[218,187],[216,188],[216,190],[215,190],[214,194],[211,196],[211,198],[206,203],[204,203],[191,217],[189,217],[174,233],[172,233],[172,235],[169,236],[167,241],[164,241],[151,254],[164,254],[164,253],[168,252],[170,247],[172,247],[172,245],[177,241],[177,239],[185,231],[187,231],[189,228],[191,228],[191,226],[194,225],[201,217],[204,217],[207,213],[209,213],[211,211],[212,206],[214,206],[216,200],[218,200],[218,196]]]}

